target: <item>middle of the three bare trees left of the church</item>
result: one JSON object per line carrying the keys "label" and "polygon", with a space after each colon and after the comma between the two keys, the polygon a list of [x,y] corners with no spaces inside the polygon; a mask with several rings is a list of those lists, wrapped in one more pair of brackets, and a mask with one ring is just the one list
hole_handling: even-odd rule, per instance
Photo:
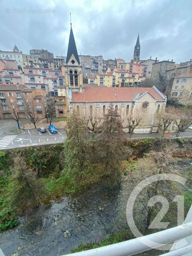
{"label": "middle of the three bare trees left of the church", "polygon": [[25,114],[36,128],[36,122],[42,113],[41,105],[37,104],[32,96],[28,97],[22,94],[22,100]]}

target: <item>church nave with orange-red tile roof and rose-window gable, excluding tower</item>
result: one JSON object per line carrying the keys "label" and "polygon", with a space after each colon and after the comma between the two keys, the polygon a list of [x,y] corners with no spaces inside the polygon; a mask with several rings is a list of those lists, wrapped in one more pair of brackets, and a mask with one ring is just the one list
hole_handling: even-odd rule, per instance
{"label": "church nave with orange-red tile roof and rose-window gable, excluding tower", "polygon": [[143,119],[134,130],[135,133],[157,132],[156,112],[165,108],[166,97],[153,88],[84,88],[83,92],[72,92],[70,110],[76,110],[82,118],[102,117],[113,104],[123,120],[123,127],[128,131],[127,118],[136,116],[138,111]]}

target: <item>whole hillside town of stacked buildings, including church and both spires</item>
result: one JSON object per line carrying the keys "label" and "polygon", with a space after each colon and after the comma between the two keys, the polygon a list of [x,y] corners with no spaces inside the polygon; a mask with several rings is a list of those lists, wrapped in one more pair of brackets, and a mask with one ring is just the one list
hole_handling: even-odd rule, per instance
{"label": "whole hillside town of stacked buildings, including church and both spires", "polygon": [[[156,114],[167,104],[192,105],[192,59],[179,64],[151,56],[141,60],[139,34],[129,62],[78,55],[71,25],[67,56],[54,58],[43,49],[24,54],[16,45],[0,51],[0,100],[0,118],[12,118],[18,126],[19,118],[37,122],[31,106],[35,119],[68,118],[76,111],[88,120],[102,118],[112,104],[124,131],[130,132],[130,120],[137,118],[133,133],[155,133]],[[166,129],[176,131],[173,124]]]}

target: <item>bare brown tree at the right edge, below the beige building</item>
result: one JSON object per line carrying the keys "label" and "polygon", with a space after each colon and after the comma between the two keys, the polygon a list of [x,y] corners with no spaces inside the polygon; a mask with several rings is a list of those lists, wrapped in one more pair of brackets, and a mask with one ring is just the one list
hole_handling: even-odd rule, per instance
{"label": "bare brown tree at the right edge, below the beige building", "polygon": [[180,132],[184,132],[192,123],[192,111],[189,108],[175,108],[173,123],[177,126],[176,137]]}

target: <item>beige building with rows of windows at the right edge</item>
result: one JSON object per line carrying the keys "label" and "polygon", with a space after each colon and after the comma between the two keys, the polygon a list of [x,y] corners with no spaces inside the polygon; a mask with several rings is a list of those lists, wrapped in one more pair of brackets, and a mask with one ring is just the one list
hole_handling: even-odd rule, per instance
{"label": "beige building with rows of windows at the right edge", "polygon": [[169,100],[183,105],[192,105],[192,74],[174,77]]}

